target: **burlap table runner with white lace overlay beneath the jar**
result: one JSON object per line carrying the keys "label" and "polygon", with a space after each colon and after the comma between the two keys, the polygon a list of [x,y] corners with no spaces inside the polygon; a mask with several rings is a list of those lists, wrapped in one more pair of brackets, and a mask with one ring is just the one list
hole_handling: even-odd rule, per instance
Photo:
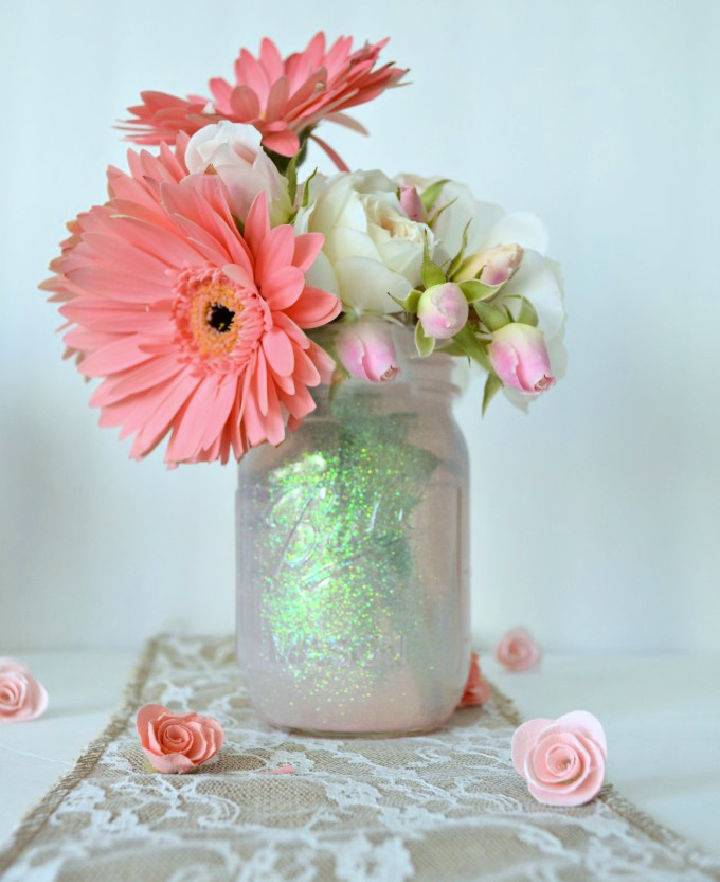
{"label": "burlap table runner with white lace overlay beneath the jar", "polygon": [[[222,723],[218,761],[151,773],[146,702]],[[510,764],[517,725],[495,692],[432,735],[331,740],[259,722],[230,638],[163,636],[123,710],[0,854],[2,882],[705,882],[720,864],[606,787],[542,806]],[[292,774],[268,774],[290,764]],[[3,872],[4,871],[4,872]]]}

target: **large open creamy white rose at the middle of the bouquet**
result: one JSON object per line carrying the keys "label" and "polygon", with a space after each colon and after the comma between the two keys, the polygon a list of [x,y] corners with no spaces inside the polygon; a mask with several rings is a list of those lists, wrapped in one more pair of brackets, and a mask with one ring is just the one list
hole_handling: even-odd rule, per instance
{"label": "large open creamy white rose at the middle of the bouquet", "polygon": [[398,312],[393,297],[403,300],[419,283],[426,239],[433,247],[430,228],[406,215],[397,185],[380,171],[340,174],[326,181],[308,227],[324,234],[323,252],[337,293],[357,312]]}

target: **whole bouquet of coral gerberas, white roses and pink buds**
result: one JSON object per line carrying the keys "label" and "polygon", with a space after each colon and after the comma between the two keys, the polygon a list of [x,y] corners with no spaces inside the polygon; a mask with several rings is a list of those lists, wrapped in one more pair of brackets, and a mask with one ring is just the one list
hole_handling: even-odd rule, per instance
{"label": "whole bouquet of coral gerberas, white roses and pink buds", "polygon": [[[317,134],[364,133],[346,111],[402,84],[379,63],[386,42],[320,33],[283,58],[264,39],[209,96],[144,92],[129,108],[123,128],[149,149],[108,169],[108,200],[69,223],[42,287],[131,456],[166,437],[170,465],[279,444],[312,387],[396,377],[391,322],[414,327],[420,357],[477,363],[483,408],[555,382],[562,295],[537,218],[445,177],[351,172]],[[302,173],[310,141],[335,176]],[[332,352],[317,330],[330,323]]]}

